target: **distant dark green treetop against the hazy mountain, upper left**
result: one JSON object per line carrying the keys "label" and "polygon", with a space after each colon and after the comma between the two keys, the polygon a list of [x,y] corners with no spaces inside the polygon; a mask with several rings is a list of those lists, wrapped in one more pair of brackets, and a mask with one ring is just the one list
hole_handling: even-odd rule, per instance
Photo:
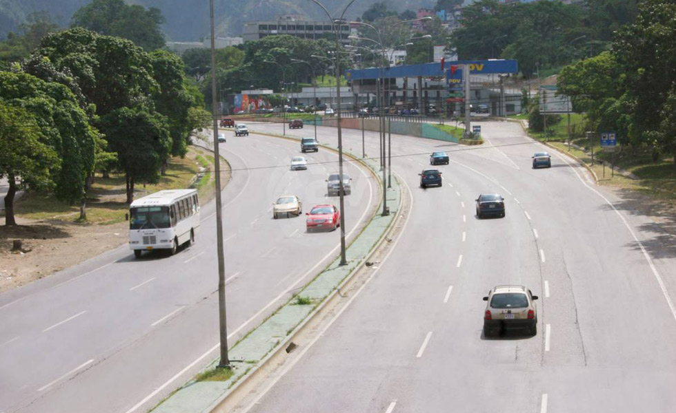
{"label": "distant dark green treetop against the hazy mountain, upper left", "polygon": [[160,25],[164,18],[158,8],[127,5],[123,0],[94,0],[81,7],[72,17],[71,25],[108,36],[129,39],[144,50],[164,47]]}

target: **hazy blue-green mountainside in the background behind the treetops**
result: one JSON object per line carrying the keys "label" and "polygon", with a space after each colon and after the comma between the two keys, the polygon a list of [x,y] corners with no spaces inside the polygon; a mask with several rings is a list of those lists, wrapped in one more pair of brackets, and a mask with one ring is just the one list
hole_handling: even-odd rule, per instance
{"label": "hazy blue-green mountainside in the background behind the treetops", "polygon": [[[361,16],[372,3],[378,0],[357,0],[350,6],[346,16],[355,19]],[[208,0],[126,0],[146,7],[156,7],[166,19],[163,30],[174,41],[197,41],[209,33]],[[324,0],[321,3],[332,14],[339,14],[350,0]],[[72,14],[90,0],[2,0],[0,1],[0,39],[8,32],[15,32],[32,12],[46,10],[61,26],[70,23]],[[433,8],[436,0],[386,0],[388,9],[397,12]],[[324,19],[325,14],[310,0],[215,0],[217,32],[236,36],[241,32],[241,22],[269,19],[275,14],[303,14]],[[338,17],[336,15],[336,17]]]}

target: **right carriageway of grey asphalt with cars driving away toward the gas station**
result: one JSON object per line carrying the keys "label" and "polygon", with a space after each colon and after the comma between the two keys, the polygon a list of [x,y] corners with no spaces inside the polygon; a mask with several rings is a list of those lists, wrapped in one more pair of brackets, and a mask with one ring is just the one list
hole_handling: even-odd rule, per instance
{"label": "right carriageway of grey asphalt with cars driving away toward the gas station", "polygon": [[[250,124],[281,133],[281,125]],[[586,169],[516,123],[482,122],[486,143],[392,136],[392,167],[412,211],[392,254],[314,346],[238,412],[673,412],[676,252],[673,237],[626,209]],[[319,140],[336,145],[335,128]],[[310,136],[310,130],[287,131]],[[343,129],[361,153],[361,130]],[[366,132],[366,153],[378,153]],[[419,188],[432,151],[444,185]],[[479,220],[497,192],[506,218]],[[486,339],[481,297],[500,284],[539,295],[535,337]]]}

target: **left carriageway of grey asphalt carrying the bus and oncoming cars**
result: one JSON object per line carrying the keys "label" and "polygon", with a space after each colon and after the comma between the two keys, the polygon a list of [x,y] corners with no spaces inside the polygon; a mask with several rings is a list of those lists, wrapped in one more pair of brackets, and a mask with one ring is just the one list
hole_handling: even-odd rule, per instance
{"label": "left carriageway of grey asphalt carrying the bus and oncoming cars", "polygon": [[[266,136],[220,144],[232,167],[223,191],[230,345],[270,315],[339,253],[340,231],[306,233],[304,215],[272,219],[279,195],[304,212],[326,196],[337,154],[306,154]],[[355,164],[346,197],[352,239],[377,208],[379,187]],[[175,256],[128,246],[0,295],[0,412],[146,412],[218,356],[215,207],[201,207],[196,244]]]}

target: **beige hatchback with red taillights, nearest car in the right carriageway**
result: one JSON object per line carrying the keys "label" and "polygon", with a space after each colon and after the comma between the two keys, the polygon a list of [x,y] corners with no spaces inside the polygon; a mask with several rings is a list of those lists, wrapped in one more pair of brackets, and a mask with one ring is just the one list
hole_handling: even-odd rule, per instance
{"label": "beige hatchback with red taillights, nearest car in the right carriageway", "polygon": [[506,330],[526,330],[537,334],[537,295],[524,286],[496,286],[484,297],[484,337]]}

